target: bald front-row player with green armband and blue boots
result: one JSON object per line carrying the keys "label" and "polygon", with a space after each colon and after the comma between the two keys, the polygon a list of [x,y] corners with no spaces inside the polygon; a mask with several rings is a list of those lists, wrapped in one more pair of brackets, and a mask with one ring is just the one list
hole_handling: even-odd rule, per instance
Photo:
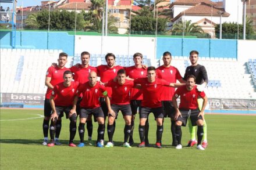
{"label": "bald front-row player with green armband and blue boots", "polygon": [[80,102],[80,123],[79,123],[79,136],[80,143],[78,147],[84,146],[84,125],[89,115],[93,114],[98,121],[98,138],[97,147],[103,147],[100,140],[103,138],[105,126],[104,126],[104,114],[99,105],[99,96],[102,94],[105,97],[106,104],[108,106],[109,113],[113,113],[111,110],[108,93],[104,85],[100,85],[97,82],[97,74],[91,71],[88,75],[89,81],[85,84],[80,84],[77,91],[77,95],[74,98],[73,110],[76,110],[77,101],[79,100],[80,93],[83,94],[83,98]]}

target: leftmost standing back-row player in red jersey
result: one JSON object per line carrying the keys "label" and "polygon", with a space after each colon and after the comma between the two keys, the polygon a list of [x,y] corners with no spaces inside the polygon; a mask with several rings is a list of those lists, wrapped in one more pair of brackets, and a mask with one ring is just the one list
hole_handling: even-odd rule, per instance
{"label": "leftmost standing back-row player in red jersey", "polygon": [[[49,98],[51,97],[52,89],[56,84],[63,82],[63,73],[69,68],[65,67],[67,63],[67,54],[59,53],[58,65],[56,67],[49,67],[45,77],[45,85],[47,86],[47,92],[45,94],[44,100],[44,121],[42,123],[42,131],[44,132],[44,142],[43,145],[47,145],[48,141],[48,129],[49,120],[51,117],[52,108],[49,103]],[[59,145],[59,133],[61,132],[61,119],[56,122],[56,134],[55,134],[55,144]]]}

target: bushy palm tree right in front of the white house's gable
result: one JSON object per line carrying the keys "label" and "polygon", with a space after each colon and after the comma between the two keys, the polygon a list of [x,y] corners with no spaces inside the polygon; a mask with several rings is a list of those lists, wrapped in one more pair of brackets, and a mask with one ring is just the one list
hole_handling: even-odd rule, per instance
{"label": "bushy palm tree right in front of the white house's gable", "polygon": [[186,23],[181,22],[174,24],[172,27],[172,33],[180,33],[184,32],[187,33],[202,33],[204,32],[200,26],[197,26],[196,23],[191,23],[191,20],[186,21]]}

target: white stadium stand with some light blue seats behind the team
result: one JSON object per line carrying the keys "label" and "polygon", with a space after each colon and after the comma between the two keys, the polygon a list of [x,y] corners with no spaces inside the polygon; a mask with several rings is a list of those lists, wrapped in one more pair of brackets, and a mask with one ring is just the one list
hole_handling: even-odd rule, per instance
{"label": "white stadium stand with some light blue seats behind the team", "polygon": [[[45,93],[45,73],[51,63],[56,63],[62,50],[1,49],[1,93]],[[66,67],[80,63],[80,56],[69,56]],[[12,64],[10,64],[12,63]],[[154,64],[147,56],[143,63]],[[206,93],[210,98],[256,99],[256,60],[247,63],[226,59],[200,58],[200,64],[207,68],[209,83]],[[90,65],[106,64],[105,54],[92,54]],[[133,66],[133,56],[116,55],[116,64]],[[183,76],[190,61],[187,56],[173,56],[173,66]]]}

